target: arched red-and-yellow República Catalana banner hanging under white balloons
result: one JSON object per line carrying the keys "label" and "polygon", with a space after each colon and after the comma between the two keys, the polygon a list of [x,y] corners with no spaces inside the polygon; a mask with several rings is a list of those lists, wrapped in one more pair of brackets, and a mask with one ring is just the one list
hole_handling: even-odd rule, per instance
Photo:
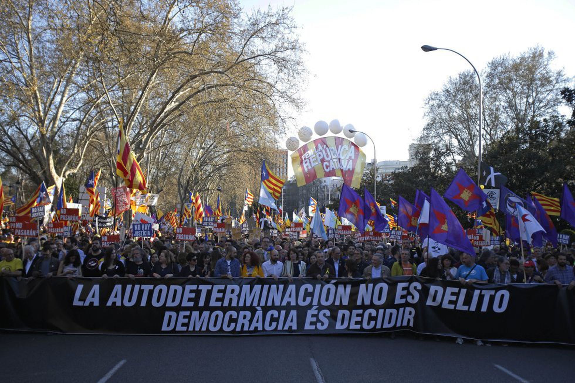
{"label": "arched red-and-yellow Rep\u00fablica Catalana banner hanging under white balloons", "polygon": [[346,185],[359,188],[365,153],[346,138],[320,137],[292,153],[292,167],[298,186],[318,178],[342,177]]}

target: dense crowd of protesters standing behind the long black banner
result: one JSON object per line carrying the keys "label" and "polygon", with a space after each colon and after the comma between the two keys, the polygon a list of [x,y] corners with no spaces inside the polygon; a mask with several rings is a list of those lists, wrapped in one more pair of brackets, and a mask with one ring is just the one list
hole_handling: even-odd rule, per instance
{"label": "dense crowd of protesters standing behind the long black banner", "polygon": [[551,247],[526,250],[506,245],[475,256],[449,249],[428,257],[427,248],[403,239],[398,243],[313,239],[241,239],[174,241],[169,236],[102,246],[97,236],[0,237],[2,276],[66,277],[270,277],[382,278],[419,275],[462,284],[489,282],[554,283],[575,286],[575,243],[559,252]]}

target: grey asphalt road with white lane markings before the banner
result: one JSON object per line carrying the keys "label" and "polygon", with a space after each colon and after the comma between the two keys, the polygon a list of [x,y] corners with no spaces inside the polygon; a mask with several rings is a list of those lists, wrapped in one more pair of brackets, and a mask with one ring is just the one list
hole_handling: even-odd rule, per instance
{"label": "grey asphalt road with white lane markings before the banner", "polygon": [[[388,335],[0,333],[2,382],[573,382],[575,349]],[[499,367],[498,367],[499,366]]]}

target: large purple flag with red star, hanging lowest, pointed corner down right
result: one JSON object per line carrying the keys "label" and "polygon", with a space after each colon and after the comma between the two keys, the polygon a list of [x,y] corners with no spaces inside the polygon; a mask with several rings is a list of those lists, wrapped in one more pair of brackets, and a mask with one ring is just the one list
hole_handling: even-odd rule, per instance
{"label": "large purple flag with red star, hanging lowest, pointed corner down right", "polygon": [[431,189],[430,226],[428,236],[443,245],[475,256],[469,238],[453,211],[435,189]]}

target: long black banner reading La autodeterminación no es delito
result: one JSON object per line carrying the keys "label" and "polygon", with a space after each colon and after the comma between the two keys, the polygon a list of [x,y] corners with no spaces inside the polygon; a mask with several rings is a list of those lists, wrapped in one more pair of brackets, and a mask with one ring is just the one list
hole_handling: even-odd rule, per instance
{"label": "long black banner reading La autodeterminaci\u00f3n no es delito", "polygon": [[[0,327],[99,334],[325,334],[412,330],[575,344],[574,291],[421,277],[0,278]],[[536,326],[536,331],[534,330]]]}

